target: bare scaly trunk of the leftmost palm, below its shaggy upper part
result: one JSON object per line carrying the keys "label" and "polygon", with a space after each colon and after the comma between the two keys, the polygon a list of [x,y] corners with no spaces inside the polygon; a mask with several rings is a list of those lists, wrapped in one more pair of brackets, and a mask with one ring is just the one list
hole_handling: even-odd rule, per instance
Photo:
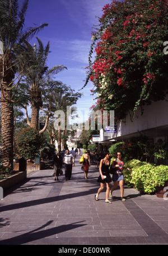
{"label": "bare scaly trunk of the leftmost palm, below its shaggy upper part", "polygon": [[[1,92],[1,111],[2,111],[2,164],[13,170],[13,104],[11,91]],[[9,101],[7,101],[7,100]],[[3,102],[4,100],[4,102]]]}

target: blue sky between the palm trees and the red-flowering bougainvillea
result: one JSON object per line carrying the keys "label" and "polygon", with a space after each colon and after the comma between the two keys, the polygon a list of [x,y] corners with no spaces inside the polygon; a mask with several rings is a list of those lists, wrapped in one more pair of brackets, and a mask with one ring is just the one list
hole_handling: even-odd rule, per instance
{"label": "blue sky between the palm trees and the red-flowering bougainvillea", "polygon": [[[22,2],[22,0],[20,0]],[[78,91],[86,80],[88,53],[90,50],[91,31],[98,24],[95,16],[102,16],[102,7],[111,0],[29,0],[25,16],[25,27],[49,23],[48,27],[38,36],[44,45],[50,41],[48,66],[64,65],[64,70],[55,76],[55,80],[62,81],[67,86]],[[36,39],[32,39],[34,44]],[[81,92],[84,96],[77,101],[77,109],[88,112],[94,104],[90,90],[91,82]],[[83,117],[84,119],[84,117]],[[77,122],[82,122],[81,118]]]}

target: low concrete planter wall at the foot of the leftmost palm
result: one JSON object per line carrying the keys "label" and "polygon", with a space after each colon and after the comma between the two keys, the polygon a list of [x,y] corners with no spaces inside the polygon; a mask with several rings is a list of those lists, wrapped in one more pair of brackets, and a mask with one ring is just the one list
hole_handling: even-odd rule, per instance
{"label": "low concrete planter wall at the foot of the leftmost palm", "polygon": [[16,185],[22,180],[25,180],[27,178],[27,171],[20,171],[17,174],[14,174],[6,179],[0,180],[0,187],[3,188],[3,190],[6,190],[8,188],[11,188],[13,185]]}

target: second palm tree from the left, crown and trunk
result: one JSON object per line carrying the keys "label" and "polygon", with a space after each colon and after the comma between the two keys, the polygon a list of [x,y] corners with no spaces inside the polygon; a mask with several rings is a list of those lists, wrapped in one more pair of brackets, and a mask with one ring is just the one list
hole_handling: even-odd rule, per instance
{"label": "second palm tree from the left, crown and trunk", "polygon": [[[39,110],[43,105],[41,97],[41,84],[49,75],[53,75],[65,69],[66,67],[59,65],[53,68],[46,66],[46,60],[49,54],[50,43],[44,47],[39,38],[38,48],[36,44],[32,46],[26,42],[26,82],[30,85],[30,103],[31,103],[31,127],[38,129],[39,124]],[[67,69],[67,68],[66,68]]]}

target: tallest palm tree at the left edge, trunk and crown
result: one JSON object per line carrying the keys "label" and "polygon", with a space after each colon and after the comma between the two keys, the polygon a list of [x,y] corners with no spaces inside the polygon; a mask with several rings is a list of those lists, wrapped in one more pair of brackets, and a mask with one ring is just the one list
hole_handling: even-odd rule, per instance
{"label": "tallest palm tree at the left edge, trunk and crown", "polygon": [[[25,13],[29,0],[22,8],[18,0],[0,1],[0,85],[2,108],[2,164],[13,169],[13,94],[18,85],[25,65],[20,69],[24,55],[24,40],[30,40],[48,24],[24,30]],[[18,53],[20,53],[18,55]],[[23,62],[22,62],[23,64]],[[24,63],[25,64],[25,63]]]}

